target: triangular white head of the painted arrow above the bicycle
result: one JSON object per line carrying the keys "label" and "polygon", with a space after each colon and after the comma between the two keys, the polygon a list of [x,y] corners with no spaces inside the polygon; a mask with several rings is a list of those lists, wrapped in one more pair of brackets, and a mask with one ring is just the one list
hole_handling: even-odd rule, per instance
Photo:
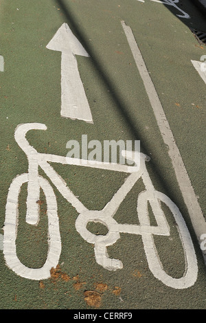
{"label": "triangular white head of the painted arrow above the bicycle", "polygon": [[89,54],[84,49],[82,44],[78,41],[78,38],[73,35],[69,25],[63,23],[58,29],[54,37],[46,46],[48,49],[56,50],[62,52],[63,54],[73,54],[80,56],[87,56]]}

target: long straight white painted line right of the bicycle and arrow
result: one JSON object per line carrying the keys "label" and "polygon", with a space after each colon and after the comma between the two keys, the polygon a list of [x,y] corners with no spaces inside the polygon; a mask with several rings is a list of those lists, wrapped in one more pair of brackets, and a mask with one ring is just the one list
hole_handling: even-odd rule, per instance
{"label": "long straight white painted line right of the bicycle and arrow", "polygon": [[[187,174],[187,170],[183,163],[183,159],[179,152],[179,148],[176,146],[176,142],[170,129],[170,125],[163,111],[163,107],[159,100],[155,86],[153,85],[152,79],[150,78],[150,74],[148,73],[148,70],[144,63],[144,58],[141,56],[141,52],[139,50],[139,47],[137,46],[135,37],[133,36],[133,32],[130,29],[130,27],[128,27],[124,23],[124,21],[122,21],[122,27],[126,34],[126,38],[128,40],[128,44],[130,45],[130,49],[133,53],[137,69],[139,70],[139,74],[144,82],[144,86],[146,88],[146,92],[148,94],[148,98],[150,100],[152,109],[155,113],[155,118],[157,120],[161,136],[163,137],[163,141],[169,148],[168,154],[172,161],[172,166],[174,167],[174,172],[176,174],[176,179],[179,183],[179,188],[181,189],[185,205],[187,206],[187,210],[190,214],[190,218],[194,230],[196,232],[198,242],[201,243],[200,237],[206,232],[206,223],[203,216],[203,212],[200,208],[200,205],[198,204],[196,194],[190,182],[190,178]],[[205,252],[203,252],[203,256],[206,261]]]}

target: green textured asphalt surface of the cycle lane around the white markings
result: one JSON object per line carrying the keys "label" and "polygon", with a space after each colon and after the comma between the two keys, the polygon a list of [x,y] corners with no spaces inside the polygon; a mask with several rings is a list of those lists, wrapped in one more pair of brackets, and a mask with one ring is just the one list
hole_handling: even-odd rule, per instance
{"label": "green textured asphalt surface of the cycle lane around the white markings", "polygon": [[[155,85],[163,111],[179,148],[198,205],[205,214],[205,82],[191,60],[200,61],[205,44],[191,28],[206,32],[205,17],[193,1],[172,5],[146,0],[23,1],[0,5],[1,56],[1,217],[0,309],[205,309],[206,269],[194,219],[185,204],[174,165],[139,74],[122,21],[131,28]],[[190,19],[177,16],[186,12]],[[47,48],[54,34],[67,23],[89,57],[76,56],[93,124],[62,118],[61,53]],[[5,205],[10,183],[26,173],[28,161],[14,140],[19,124],[41,123],[47,131],[29,131],[27,140],[39,153],[66,156],[69,140],[140,140],[141,151],[155,189],[178,206],[188,227],[197,258],[198,274],[190,287],[176,289],[155,278],[140,234],[121,233],[107,248],[120,259],[122,269],[108,270],[96,261],[93,243],[76,230],[77,210],[52,184],[58,203],[61,253],[46,279],[28,279],[6,264],[3,254]],[[124,172],[80,168],[53,163],[73,194],[88,210],[102,210],[126,181]],[[39,174],[50,181],[43,170]],[[137,196],[141,179],[117,209],[118,223],[139,224]],[[38,225],[25,222],[27,183],[19,191],[16,255],[27,268],[41,268],[47,259],[48,220],[45,194],[38,199]],[[150,224],[157,225],[150,206]],[[176,221],[163,205],[170,236],[154,236],[166,273],[181,278],[184,249]],[[198,222],[198,214],[196,215]],[[193,223],[194,221],[194,223]],[[106,234],[100,223],[89,223],[93,234]],[[204,230],[203,230],[204,232]],[[206,233],[206,232],[205,232]],[[14,235],[15,235],[14,234]],[[14,238],[14,236],[13,236]],[[187,266],[186,266],[187,267]],[[17,270],[17,269],[16,269]]]}

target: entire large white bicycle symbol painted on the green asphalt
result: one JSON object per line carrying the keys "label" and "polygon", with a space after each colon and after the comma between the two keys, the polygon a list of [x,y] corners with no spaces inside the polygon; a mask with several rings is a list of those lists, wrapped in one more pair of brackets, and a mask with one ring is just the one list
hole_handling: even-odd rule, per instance
{"label": "entire large white bicycle symbol painted on the green asphalt", "polygon": [[[146,155],[134,152],[134,154],[139,154],[140,157],[140,167],[137,167],[137,165],[126,166],[122,164],[104,164],[103,162],[91,165],[85,163],[84,159],[38,153],[35,148],[30,146],[25,138],[27,131],[33,129],[46,130],[47,127],[45,124],[39,123],[21,124],[17,126],[14,135],[16,142],[27,155],[29,166],[27,173],[18,175],[13,179],[8,192],[5,210],[3,254],[5,262],[10,269],[21,277],[32,280],[41,280],[49,278],[52,267],[56,267],[56,265],[58,265],[61,253],[61,239],[56,196],[50,183],[38,175],[38,166],[40,166],[62,196],[65,197],[65,199],[67,199],[67,201],[71,203],[78,212],[79,215],[76,219],[76,230],[88,243],[94,244],[95,259],[99,265],[108,270],[121,269],[123,267],[122,262],[118,259],[109,258],[106,248],[109,245],[113,245],[117,239],[120,238],[120,232],[140,234],[144,243],[148,266],[156,278],[161,280],[163,284],[175,289],[183,289],[194,285],[197,278],[198,267],[190,232],[187,229],[179,208],[177,208],[169,197],[155,190],[148,171],[146,170]],[[126,151],[122,151],[122,153],[126,156]],[[131,158],[130,160],[135,161],[137,158]],[[109,201],[102,210],[88,210],[73,194],[73,192],[71,192],[62,177],[60,177],[60,175],[58,175],[54,168],[49,164],[49,161],[60,164],[84,167],[89,166],[92,168],[102,168],[102,170],[126,172],[129,175],[124,184],[119,188],[119,190],[117,190],[111,201]],[[113,219],[113,216],[115,215],[115,212],[117,212],[120,203],[122,203],[128,192],[140,178],[143,180],[146,188],[146,190],[141,192],[137,197],[137,215],[139,217],[140,225],[119,224],[115,219]],[[42,188],[47,201],[49,247],[47,260],[43,267],[38,269],[25,267],[16,255],[16,236],[19,219],[18,197],[23,183],[27,183],[27,223],[32,225],[38,224],[38,204],[36,201],[39,199],[40,188]],[[155,215],[157,226],[150,225],[148,201],[152,207],[152,212]],[[161,209],[161,202],[168,205],[168,208],[170,208],[170,211],[174,216],[185,252],[185,273],[181,278],[172,278],[165,273],[153,240],[154,234],[170,236],[170,227],[168,225],[168,221],[165,219],[165,214]],[[103,223],[108,228],[108,233],[105,236],[92,234],[87,230],[87,223],[89,221],[98,221]]]}

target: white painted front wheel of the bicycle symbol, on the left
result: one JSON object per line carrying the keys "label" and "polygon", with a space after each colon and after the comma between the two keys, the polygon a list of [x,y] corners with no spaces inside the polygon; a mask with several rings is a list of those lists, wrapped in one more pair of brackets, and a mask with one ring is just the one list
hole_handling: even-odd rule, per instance
{"label": "white painted front wheel of the bicycle symbol, on the left", "polygon": [[49,182],[43,177],[38,177],[39,183],[47,201],[48,216],[48,252],[47,260],[41,268],[28,268],[21,263],[16,255],[16,236],[18,227],[18,199],[21,186],[28,181],[28,174],[22,174],[14,178],[8,192],[5,208],[5,223],[3,234],[3,254],[5,263],[17,275],[32,280],[41,280],[50,277],[52,267],[58,265],[61,253],[60,230],[58,224],[56,196]]}

